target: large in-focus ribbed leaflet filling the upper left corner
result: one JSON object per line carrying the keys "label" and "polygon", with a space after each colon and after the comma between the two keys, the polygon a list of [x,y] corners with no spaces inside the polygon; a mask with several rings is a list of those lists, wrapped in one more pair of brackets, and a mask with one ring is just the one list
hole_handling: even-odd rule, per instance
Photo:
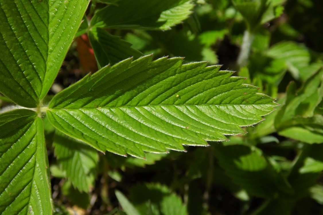
{"label": "large in-focus ribbed leaflet filling the upper left corner", "polygon": [[37,107],[56,78],[88,4],[87,0],[1,1],[4,95],[19,105]]}

